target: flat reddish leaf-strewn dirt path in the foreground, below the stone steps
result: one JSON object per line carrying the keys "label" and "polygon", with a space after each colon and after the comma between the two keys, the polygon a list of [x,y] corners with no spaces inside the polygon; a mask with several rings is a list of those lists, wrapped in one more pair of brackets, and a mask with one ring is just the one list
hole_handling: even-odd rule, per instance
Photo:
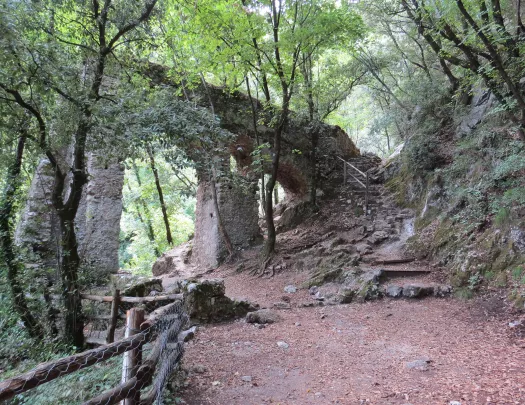
{"label": "flat reddish leaf-strewn dirt path in the foreground, below the stone steps", "polygon": [[[283,292],[298,275],[225,278],[232,297],[269,306],[288,295],[293,308],[264,329],[244,320],[202,327],[185,354],[186,368],[206,369],[190,372],[182,394],[190,405],[525,404],[525,341],[511,339],[508,320],[479,302],[298,308],[307,292]],[[406,366],[426,359],[427,371]]]}

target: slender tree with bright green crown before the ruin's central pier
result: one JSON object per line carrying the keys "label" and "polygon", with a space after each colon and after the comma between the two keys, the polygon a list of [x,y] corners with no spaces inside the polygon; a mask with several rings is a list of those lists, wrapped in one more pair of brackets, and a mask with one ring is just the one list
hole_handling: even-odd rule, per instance
{"label": "slender tree with bright green crown before the ruin's central pier", "polygon": [[[204,1],[198,7],[195,7],[194,2],[183,3],[174,23],[181,27],[176,32],[172,28],[172,35],[179,39],[177,42],[172,41],[172,44],[181,46],[180,50],[174,52],[205,52],[208,55],[207,59],[199,58],[199,61],[206,60],[206,63],[199,64],[198,70],[189,66],[188,62],[183,62],[186,69],[199,75],[204,72],[211,80],[220,78],[218,83],[232,88],[239,84],[239,75],[249,76],[248,85],[251,81],[256,90],[260,89],[264,95],[266,109],[259,119],[270,115],[273,126],[273,134],[269,139],[270,164],[265,167],[270,175],[264,187],[268,237],[263,258],[266,260],[275,251],[272,194],[278,181],[282,136],[290,117],[292,98],[301,94],[298,91],[300,70],[306,72],[306,80],[310,79],[306,94],[309,94],[307,100],[313,117],[314,64],[324,50],[339,44],[348,46],[358,38],[363,32],[361,19],[347,4],[337,6],[324,1],[226,0]],[[189,46],[184,46],[186,43],[192,44],[191,50]],[[224,69],[225,66],[229,69]],[[249,90],[250,97],[257,91]],[[275,105],[269,105],[270,102]],[[257,121],[254,120],[254,128],[257,127]]]}

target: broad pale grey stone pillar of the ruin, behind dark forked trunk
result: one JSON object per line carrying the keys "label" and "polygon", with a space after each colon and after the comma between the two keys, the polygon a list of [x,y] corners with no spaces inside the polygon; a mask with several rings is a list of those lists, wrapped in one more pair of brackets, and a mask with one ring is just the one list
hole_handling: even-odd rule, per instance
{"label": "broad pale grey stone pillar of the ruin, behind dark forked trunk", "polygon": [[[83,268],[96,276],[119,268],[118,250],[124,169],[90,153],[87,159],[89,181],[84,186],[76,217],[79,254]],[[34,253],[35,263],[58,268],[59,225],[51,205],[53,168],[43,158],[35,171],[26,206],[16,230],[17,245]]]}

